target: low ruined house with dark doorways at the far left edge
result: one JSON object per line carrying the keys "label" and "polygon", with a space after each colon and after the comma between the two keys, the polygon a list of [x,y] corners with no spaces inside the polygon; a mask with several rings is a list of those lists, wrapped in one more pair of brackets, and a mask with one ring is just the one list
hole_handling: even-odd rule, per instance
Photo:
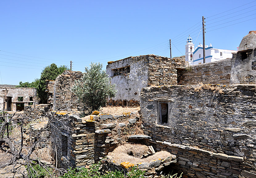
{"label": "low ruined house with dark doorways at the far left edge", "polygon": [[0,87],[0,110],[21,111],[37,103],[35,88]]}

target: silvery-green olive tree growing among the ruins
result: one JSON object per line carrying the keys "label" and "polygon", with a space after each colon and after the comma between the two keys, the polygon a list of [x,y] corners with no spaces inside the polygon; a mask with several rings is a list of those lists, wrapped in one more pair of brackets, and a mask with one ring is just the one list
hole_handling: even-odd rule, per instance
{"label": "silvery-green olive tree growing among the ruins", "polygon": [[106,71],[102,70],[100,63],[91,63],[90,68],[85,67],[84,75],[75,82],[72,91],[78,100],[84,104],[82,113],[85,115],[105,106],[106,98],[114,97],[117,92],[115,85],[109,83],[109,77]]}

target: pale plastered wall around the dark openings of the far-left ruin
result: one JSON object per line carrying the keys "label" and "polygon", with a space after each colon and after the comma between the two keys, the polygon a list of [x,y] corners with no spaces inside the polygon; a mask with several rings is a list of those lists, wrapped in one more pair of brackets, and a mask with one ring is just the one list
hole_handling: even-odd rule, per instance
{"label": "pale plastered wall around the dark openings of the far-left ruin", "polygon": [[25,106],[28,105],[28,103],[31,103],[33,101],[29,100],[30,96],[33,96],[33,99],[35,99],[36,96],[36,89],[35,88],[16,88],[16,87],[0,87],[0,110],[7,108],[7,96],[12,97],[12,111],[16,111],[16,102],[18,102],[18,97],[23,97],[23,102]]}

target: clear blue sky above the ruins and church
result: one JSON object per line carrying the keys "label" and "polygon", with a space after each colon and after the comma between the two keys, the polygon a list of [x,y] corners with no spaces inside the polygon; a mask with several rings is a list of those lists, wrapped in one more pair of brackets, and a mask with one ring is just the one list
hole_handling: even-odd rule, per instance
{"label": "clear blue sky above the ruins and church", "polygon": [[[91,61],[105,69],[107,61],[129,56],[169,57],[169,39],[172,57],[182,56],[188,35],[196,41],[202,16],[205,43],[213,48],[236,50],[242,38],[256,30],[254,0],[1,0],[0,8],[0,84],[32,82],[45,66],[70,65],[70,60],[74,70],[84,72]],[[196,45],[199,42],[202,33]]]}

